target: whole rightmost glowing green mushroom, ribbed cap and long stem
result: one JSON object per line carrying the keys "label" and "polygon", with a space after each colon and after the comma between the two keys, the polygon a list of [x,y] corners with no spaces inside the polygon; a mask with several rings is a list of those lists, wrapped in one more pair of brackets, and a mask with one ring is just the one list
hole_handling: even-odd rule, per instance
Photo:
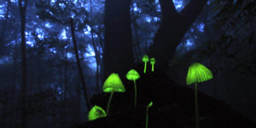
{"label": "whole rightmost glowing green mushroom, ribbed cap and long stem", "polygon": [[195,128],[199,128],[199,113],[197,101],[197,83],[212,79],[212,72],[201,63],[195,62],[189,67],[186,83],[195,83]]}

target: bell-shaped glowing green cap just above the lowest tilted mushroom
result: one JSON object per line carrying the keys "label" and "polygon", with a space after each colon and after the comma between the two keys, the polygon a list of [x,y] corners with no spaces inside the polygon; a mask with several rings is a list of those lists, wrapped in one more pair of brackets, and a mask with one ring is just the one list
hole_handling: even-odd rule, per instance
{"label": "bell-shaped glowing green cap just above the lowest tilted mushroom", "polygon": [[102,90],[104,92],[125,92],[125,86],[119,78],[118,73],[111,73],[103,84]]}

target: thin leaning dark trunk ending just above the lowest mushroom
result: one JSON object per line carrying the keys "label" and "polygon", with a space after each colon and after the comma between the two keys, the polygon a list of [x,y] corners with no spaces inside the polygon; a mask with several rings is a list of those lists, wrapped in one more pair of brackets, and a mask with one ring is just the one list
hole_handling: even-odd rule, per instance
{"label": "thin leaning dark trunk ending just above the lowest mushroom", "polygon": [[90,101],[89,101],[89,97],[87,96],[87,89],[86,89],[86,84],[85,84],[85,81],[84,81],[84,73],[83,73],[82,67],[80,65],[78,46],[77,46],[76,38],[75,38],[75,34],[74,34],[75,28],[73,26],[73,19],[72,18],[70,18],[70,25],[71,25],[71,33],[72,33],[72,39],[73,39],[73,48],[74,48],[74,52],[75,52],[75,55],[76,55],[77,66],[79,68],[79,76],[80,76],[80,79],[82,81],[82,86],[83,86],[82,88],[83,88],[83,91],[84,91],[84,99],[85,99],[86,106],[87,106],[88,110],[90,110]]}

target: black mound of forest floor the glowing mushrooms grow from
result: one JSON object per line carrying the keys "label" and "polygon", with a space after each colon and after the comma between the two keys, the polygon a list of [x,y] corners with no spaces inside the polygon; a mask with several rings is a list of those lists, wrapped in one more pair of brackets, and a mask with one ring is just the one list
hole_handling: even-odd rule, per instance
{"label": "black mound of forest floor the glowing mushrooms grow from", "polygon": [[[114,93],[108,117],[73,126],[73,128],[143,128],[148,110],[148,128],[195,128],[195,91],[176,84],[157,70],[143,73],[143,66],[136,68],[141,79],[137,80],[137,108],[134,108],[133,82],[123,80],[125,93]],[[124,82],[125,81],[125,82]],[[107,108],[109,94],[91,98],[93,105]],[[255,128],[256,124],[242,116],[222,101],[198,92],[201,128]]]}

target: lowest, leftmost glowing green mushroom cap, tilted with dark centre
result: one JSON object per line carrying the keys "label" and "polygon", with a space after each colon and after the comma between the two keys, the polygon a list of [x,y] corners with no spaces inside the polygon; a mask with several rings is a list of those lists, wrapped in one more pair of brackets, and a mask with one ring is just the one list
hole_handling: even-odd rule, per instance
{"label": "lowest, leftmost glowing green mushroom cap, tilted with dark centre", "polygon": [[106,116],[107,114],[104,111],[104,109],[95,105],[93,108],[90,109],[88,113],[88,120],[91,121],[91,120],[99,119]]}

